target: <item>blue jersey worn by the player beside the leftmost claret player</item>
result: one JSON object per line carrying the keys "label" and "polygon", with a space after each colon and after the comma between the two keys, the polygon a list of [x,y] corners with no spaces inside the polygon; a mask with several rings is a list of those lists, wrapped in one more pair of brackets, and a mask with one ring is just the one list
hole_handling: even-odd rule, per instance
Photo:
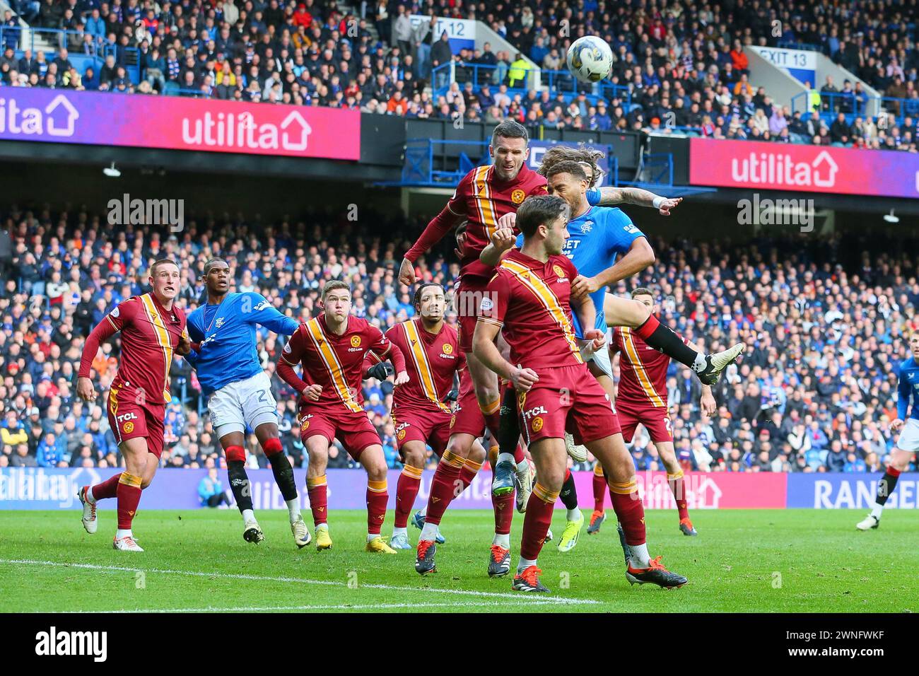
{"label": "blue jersey worn by the player beside the leftmost claret player", "polygon": [[261,293],[227,293],[221,304],[204,304],[188,315],[188,336],[200,343],[188,361],[198,371],[204,395],[262,372],[255,325],[290,336],[300,322],[281,315]]}

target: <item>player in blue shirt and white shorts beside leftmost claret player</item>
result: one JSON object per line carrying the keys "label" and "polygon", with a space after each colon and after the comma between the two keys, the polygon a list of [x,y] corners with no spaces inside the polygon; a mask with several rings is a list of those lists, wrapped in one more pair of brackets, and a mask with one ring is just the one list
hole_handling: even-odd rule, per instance
{"label": "player in blue shirt and white shorts beside leftmost claret player", "polygon": [[300,513],[300,498],[290,461],[278,433],[278,404],[271,381],[262,369],[255,342],[255,325],[289,336],[300,323],[282,315],[260,293],[230,292],[230,266],[221,258],[204,265],[207,304],[188,315],[188,335],[194,351],[189,361],[198,371],[202,394],[208,397],[210,422],[227,458],[227,474],[236,506],[243,514],[246,542],[265,539],[255,521],[252,492],[245,473],[245,429],[255,431],[281,495],[287,503],[290,531],[298,547],[312,536]]}

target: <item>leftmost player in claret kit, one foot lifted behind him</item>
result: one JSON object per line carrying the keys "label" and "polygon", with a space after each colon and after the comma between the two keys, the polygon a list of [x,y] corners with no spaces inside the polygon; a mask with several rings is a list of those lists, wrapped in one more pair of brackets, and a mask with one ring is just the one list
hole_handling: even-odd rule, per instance
{"label": "leftmost player in claret kit, one foot lifted behind him", "polygon": [[112,546],[142,552],[130,526],[141,491],[150,486],[163,453],[169,367],[173,353],[186,355],[191,342],[185,328],[185,313],[173,304],[179,290],[176,263],[161,258],[150,268],[153,291],[119,303],[96,328],[83,346],[76,394],[85,402],[96,401],[91,380],[92,363],[99,344],[121,332],[121,359],[115,380],[108,389],[108,424],[124,458],[124,471],[96,484],[80,487],[86,533],[96,533],[96,503],[118,498],[118,531]]}

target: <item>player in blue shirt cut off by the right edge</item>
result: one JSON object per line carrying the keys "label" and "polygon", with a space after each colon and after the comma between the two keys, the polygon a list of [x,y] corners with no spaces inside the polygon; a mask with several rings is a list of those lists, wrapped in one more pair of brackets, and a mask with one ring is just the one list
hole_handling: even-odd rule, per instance
{"label": "player in blue shirt cut off by the right edge", "polygon": [[[878,496],[874,507],[862,521],[859,531],[868,531],[880,525],[884,504],[897,487],[897,479],[910,467],[910,459],[919,451],[919,329],[910,336],[910,351],[913,353],[900,364],[900,384],[897,388],[897,419],[891,422],[891,431],[901,430],[897,447],[891,451],[891,461],[878,482]],[[910,396],[913,407],[910,408]]]}

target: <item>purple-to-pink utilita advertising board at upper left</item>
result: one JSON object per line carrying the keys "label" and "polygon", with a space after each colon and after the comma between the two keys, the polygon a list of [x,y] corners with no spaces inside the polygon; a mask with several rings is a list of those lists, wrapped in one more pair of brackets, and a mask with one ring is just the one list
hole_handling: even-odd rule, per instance
{"label": "purple-to-pink utilita advertising board at upper left", "polygon": [[0,139],[357,160],[360,113],[60,89],[0,89]]}

